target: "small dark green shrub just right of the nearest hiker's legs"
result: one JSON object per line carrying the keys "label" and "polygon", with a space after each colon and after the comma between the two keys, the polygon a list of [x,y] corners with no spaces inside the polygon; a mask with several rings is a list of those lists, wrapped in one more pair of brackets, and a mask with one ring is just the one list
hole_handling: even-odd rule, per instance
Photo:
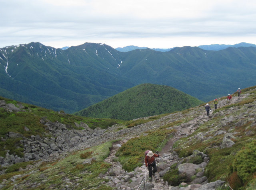
{"label": "small dark green shrub just right of the nearest hiker's legs", "polygon": [[179,186],[180,183],[186,182],[187,176],[186,173],[179,174],[179,170],[177,169],[170,169],[166,172],[163,176],[164,181],[167,181],[169,185],[172,186]]}

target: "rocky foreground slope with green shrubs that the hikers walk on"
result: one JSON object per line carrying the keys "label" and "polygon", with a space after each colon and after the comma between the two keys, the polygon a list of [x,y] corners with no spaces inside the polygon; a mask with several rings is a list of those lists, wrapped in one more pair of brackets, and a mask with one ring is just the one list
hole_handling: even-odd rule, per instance
{"label": "rocky foreground slope with green shrubs that the hikers walk on", "polygon": [[[242,89],[241,97],[232,96],[231,102],[226,97],[218,98],[217,110],[213,101],[208,102],[212,108],[209,117],[202,104],[105,129],[92,129],[84,121],[76,121],[76,127],[71,127],[64,124],[64,119],[50,121],[50,116],[40,116],[38,122],[45,131],[38,135],[27,135],[32,134],[30,127],[2,135],[2,147],[7,148],[4,142],[9,140],[18,141],[15,150],[4,150],[5,155],[0,157],[0,188],[254,189],[256,86]],[[2,98],[1,118],[34,112],[31,105],[10,102]],[[64,112],[58,114],[68,116]],[[24,152],[18,154],[20,149]],[[143,164],[147,149],[160,154],[152,182]]]}

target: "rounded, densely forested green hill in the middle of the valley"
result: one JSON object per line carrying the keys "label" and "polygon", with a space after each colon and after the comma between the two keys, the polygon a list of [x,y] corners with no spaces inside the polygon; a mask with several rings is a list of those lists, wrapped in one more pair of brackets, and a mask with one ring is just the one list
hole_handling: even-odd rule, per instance
{"label": "rounded, densely forested green hill in the middle of the valley", "polygon": [[75,114],[130,120],[185,110],[202,103],[170,86],[140,84]]}

